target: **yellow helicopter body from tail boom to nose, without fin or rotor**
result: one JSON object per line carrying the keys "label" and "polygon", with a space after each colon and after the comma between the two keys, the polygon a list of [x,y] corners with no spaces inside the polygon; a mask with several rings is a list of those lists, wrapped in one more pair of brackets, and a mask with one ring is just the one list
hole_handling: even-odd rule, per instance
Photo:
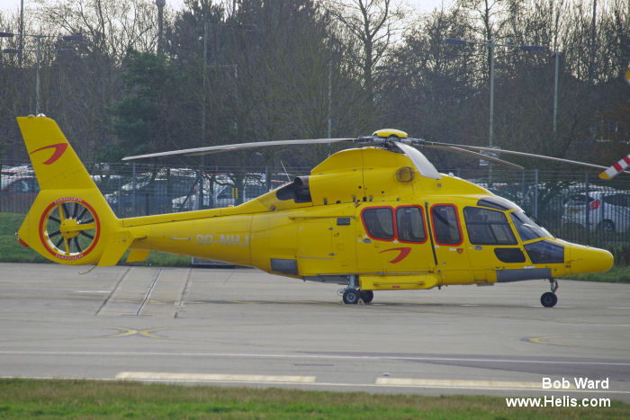
{"label": "yellow helicopter body from tail boom to nose, without fin or rotor", "polygon": [[121,219],[132,249],[193,255],[361,290],[605,271],[608,251],[552,237],[514,203],[407,156],[344,150],[273,192],[215,210]]}

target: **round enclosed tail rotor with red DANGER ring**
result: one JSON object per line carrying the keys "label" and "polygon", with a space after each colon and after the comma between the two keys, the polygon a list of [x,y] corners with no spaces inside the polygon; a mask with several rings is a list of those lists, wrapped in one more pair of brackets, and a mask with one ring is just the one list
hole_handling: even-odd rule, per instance
{"label": "round enclosed tail rotor with red DANGER ring", "polygon": [[89,253],[100,235],[94,209],[74,198],[51,203],[40,219],[40,238],[48,251],[61,259],[77,259]]}

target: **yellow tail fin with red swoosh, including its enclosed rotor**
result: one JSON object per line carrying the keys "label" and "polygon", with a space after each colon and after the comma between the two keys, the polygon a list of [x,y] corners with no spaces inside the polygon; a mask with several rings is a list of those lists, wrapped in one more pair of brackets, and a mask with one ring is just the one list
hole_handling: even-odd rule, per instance
{"label": "yellow tail fin with red swoosh, including its enclosed rotor", "polygon": [[20,243],[60,264],[116,264],[133,237],[121,229],[57,123],[43,116],[17,121],[40,183]]}

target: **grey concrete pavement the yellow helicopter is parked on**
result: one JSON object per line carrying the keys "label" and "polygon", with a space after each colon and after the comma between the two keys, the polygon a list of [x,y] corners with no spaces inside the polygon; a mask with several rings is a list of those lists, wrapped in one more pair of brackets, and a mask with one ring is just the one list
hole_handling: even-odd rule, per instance
{"label": "grey concrete pavement the yellow helicopter is parked on", "polygon": [[347,306],[251,269],[88,268],[0,264],[0,376],[630,402],[627,284],[560,281],[555,308],[547,281]]}

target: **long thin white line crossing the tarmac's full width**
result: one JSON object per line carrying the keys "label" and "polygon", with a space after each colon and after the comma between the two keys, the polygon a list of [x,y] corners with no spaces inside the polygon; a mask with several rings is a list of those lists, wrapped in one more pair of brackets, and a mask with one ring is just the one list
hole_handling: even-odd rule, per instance
{"label": "long thin white line crossing the tarmac's full width", "polygon": [[9,351],[0,350],[0,354],[31,354],[56,356],[165,356],[165,357],[225,357],[252,359],[306,359],[306,360],[377,360],[377,361],[412,361],[412,362],[492,362],[492,363],[532,363],[532,364],[575,364],[599,366],[630,366],[630,362],[581,362],[563,360],[527,360],[527,359],[482,359],[476,357],[430,357],[401,355],[347,355],[347,354],[277,354],[277,353],[166,353],[166,352],[47,352],[47,351]]}

